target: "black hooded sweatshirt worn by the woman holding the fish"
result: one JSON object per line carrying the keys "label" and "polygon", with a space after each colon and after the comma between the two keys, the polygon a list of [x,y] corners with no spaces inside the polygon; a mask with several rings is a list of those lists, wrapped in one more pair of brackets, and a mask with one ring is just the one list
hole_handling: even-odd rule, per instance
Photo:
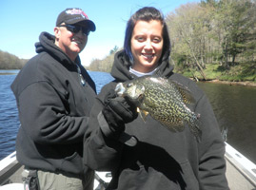
{"label": "black hooded sweatshirt worn by the woman holding the fish", "polygon": [[90,138],[85,139],[85,163],[93,169],[112,172],[108,189],[228,189],[225,144],[211,105],[205,93],[194,82],[172,72],[167,59],[158,66],[155,75],[170,78],[191,90],[196,103],[189,108],[201,114],[202,142],[196,141],[187,126],[183,132],[174,133],[149,115],[146,123],[138,117],[126,124],[125,134],[134,136],[137,139],[136,145],[111,134],[101,114],[103,100],[117,82],[135,77],[129,73],[129,66],[124,52],[118,52],[111,70],[115,81],[103,87],[91,110],[89,125],[94,130],[88,134]]}

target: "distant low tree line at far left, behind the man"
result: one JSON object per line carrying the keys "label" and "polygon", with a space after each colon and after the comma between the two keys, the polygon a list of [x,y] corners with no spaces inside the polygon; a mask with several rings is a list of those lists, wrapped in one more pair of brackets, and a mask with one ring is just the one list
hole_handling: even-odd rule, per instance
{"label": "distant low tree line at far left, behind the man", "polygon": [[17,56],[0,50],[0,69],[20,69],[28,62],[26,59],[19,59]]}

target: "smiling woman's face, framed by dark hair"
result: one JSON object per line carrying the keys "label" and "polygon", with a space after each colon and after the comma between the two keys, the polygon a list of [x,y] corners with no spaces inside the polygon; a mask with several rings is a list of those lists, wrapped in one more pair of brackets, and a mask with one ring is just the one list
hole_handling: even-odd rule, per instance
{"label": "smiling woman's face, framed by dark hair", "polygon": [[162,30],[162,24],[158,20],[138,21],[135,24],[130,39],[133,69],[150,72],[158,66],[164,44]]}

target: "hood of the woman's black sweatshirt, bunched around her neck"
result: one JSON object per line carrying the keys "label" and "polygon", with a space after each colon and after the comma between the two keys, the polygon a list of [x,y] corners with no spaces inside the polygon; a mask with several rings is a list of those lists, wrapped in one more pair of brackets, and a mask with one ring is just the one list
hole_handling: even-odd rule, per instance
{"label": "hood of the woman's black sweatshirt, bunched around her neck", "polygon": [[[165,52],[162,60],[159,62],[154,75],[161,77],[169,77],[173,72],[173,66],[169,65],[169,51]],[[111,69],[110,74],[117,81],[124,82],[127,80],[132,80],[136,76],[129,72],[129,67],[131,63],[128,61],[128,56],[125,53],[125,50],[118,51],[114,57],[114,63]]]}

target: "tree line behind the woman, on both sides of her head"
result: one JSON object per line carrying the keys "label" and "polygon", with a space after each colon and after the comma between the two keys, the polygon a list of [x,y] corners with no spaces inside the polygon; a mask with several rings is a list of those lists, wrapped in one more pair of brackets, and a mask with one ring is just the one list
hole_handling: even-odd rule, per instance
{"label": "tree line behind the woman, on both sides of her head", "polygon": [[[205,0],[167,13],[175,71],[202,80],[256,81],[255,2]],[[109,72],[115,50],[88,68]]]}

